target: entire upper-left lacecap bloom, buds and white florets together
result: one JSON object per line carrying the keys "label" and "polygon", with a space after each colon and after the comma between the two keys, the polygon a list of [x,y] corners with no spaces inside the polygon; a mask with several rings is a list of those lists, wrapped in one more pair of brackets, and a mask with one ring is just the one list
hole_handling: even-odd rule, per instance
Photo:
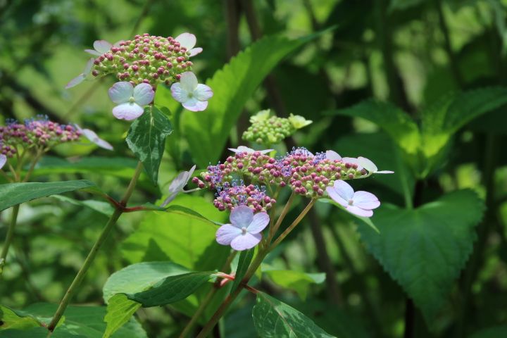
{"label": "entire upper-left lacecap bloom, buds and white florets together", "polygon": [[115,75],[119,82],[109,89],[109,95],[118,104],[113,108],[113,115],[122,120],[134,120],[142,115],[144,106],[153,101],[159,84],[172,86],[173,97],[184,108],[203,111],[213,92],[206,84],[199,84],[190,71],[190,57],[202,51],[195,44],[196,37],[190,33],[176,38],[145,33],[115,44],[98,40],[94,49],[85,50],[95,58],[88,61],[84,72],[71,80],[67,88],[93,77]]}

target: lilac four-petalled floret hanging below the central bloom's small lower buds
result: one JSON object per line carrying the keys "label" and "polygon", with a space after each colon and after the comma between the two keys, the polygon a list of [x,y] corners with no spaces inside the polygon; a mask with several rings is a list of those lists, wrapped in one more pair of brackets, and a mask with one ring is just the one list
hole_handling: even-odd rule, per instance
{"label": "lilac four-petalled floret hanging below the central bloom's small lower buds", "polygon": [[237,251],[248,250],[261,242],[261,232],[270,221],[267,213],[256,213],[248,206],[238,206],[231,211],[230,224],[222,225],[216,232],[219,244],[230,245]]}

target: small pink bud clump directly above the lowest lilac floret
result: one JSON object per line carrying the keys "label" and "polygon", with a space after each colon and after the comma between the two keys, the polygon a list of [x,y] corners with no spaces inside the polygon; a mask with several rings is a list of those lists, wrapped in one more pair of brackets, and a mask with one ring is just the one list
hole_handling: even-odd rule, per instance
{"label": "small pink bud clump directly above the lowest lilac floret", "polygon": [[234,181],[232,184],[225,182],[217,190],[213,205],[220,211],[231,211],[237,206],[248,206],[254,212],[265,212],[276,203],[275,199],[266,194],[264,186],[258,187],[253,184],[246,186],[243,182],[236,184]]}

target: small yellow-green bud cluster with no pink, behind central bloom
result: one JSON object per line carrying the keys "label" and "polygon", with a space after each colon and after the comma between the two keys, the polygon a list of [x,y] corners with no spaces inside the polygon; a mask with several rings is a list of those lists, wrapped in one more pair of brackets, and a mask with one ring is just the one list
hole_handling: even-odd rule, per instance
{"label": "small yellow-green bud cluster with no pink, behind central bloom", "polygon": [[249,142],[264,144],[278,144],[296,130],[312,123],[299,115],[290,115],[289,118],[270,116],[270,110],[259,111],[250,118],[251,126],[243,133],[243,139]]}

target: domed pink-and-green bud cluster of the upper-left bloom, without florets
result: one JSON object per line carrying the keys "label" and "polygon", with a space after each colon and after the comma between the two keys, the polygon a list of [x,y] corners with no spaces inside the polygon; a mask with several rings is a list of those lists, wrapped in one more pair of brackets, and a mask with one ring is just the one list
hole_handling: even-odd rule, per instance
{"label": "domed pink-and-green bud cluster of the upper-left bloom, without florets", "polygon": [[133,85],[172,84],[180,74],[191,70],[190,52],[173,37],[155,37],[145,33],[118,43],[94,60],[95,77],[115,74],[120,81]]}

